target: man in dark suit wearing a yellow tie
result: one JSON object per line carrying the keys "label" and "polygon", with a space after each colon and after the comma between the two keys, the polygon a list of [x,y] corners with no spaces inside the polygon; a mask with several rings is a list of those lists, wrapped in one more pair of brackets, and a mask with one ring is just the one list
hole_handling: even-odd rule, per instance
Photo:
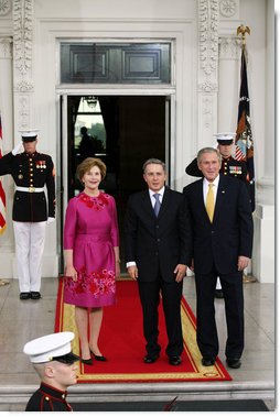
{"label": "man in dark suit wearing a yellow tie", "polygon": [[243,182],[219,175],[220,155],[205,147],[197,154],[203,179],[184,188],[193,235],[197,298],[197,344],[205,366],[218,354],[214,293],[219,276],[225,297],[227,364],[237,369],[244,350],[243,271],[252,250],[249,194]]}

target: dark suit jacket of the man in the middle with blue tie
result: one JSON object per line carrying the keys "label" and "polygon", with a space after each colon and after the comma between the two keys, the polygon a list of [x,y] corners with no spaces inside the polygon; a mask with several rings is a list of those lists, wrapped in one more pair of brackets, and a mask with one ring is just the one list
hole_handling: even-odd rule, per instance
{"label": "dark suit jacket of the man in the middle with blue tie", "polygon": [[126,213],[126,262],[134,261],[139,281],[157,279],[159,267],[164,281],[174,279],[174,268],[191,259],[191,234],[181,193],[165,187],[159,217],[149,190],[130,196]]}

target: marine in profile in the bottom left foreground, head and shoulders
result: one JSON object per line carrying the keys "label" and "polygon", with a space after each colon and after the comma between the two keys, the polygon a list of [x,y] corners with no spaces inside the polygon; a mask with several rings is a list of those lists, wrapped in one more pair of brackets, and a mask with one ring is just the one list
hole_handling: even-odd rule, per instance
{"label": "marine in profile in the bottom left foreground, head and shoulders", "polygon": [[28,402],[25,411],[73,411],[67,403],[67,387],[76,384],[76,361],[71,350],[74,333],[63,331],[28,342],[23,352],[29,355],[41,385]]}

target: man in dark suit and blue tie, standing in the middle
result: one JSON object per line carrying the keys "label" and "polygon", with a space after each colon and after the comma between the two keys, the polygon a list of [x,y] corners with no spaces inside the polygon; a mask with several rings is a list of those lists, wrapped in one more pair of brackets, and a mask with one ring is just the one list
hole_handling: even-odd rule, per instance
{"label": "man in dark suit and blue tie, standing in the middle", "polygon": [[160,355],[158,307],[162,296],[169,343],[165,353],[172,365],[182,362],[181,297],[190,263],[189,221],[181,193],[166,187],[165,165],[160,160],[143,164],[144,191],[130,196],[126,215],[126,261],[138,281],[147,340],[146,363]]}

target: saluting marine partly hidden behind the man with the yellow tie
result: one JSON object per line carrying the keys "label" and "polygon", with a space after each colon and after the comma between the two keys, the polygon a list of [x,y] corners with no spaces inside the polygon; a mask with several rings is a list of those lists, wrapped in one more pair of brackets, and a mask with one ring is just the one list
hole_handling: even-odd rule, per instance
{"label": "saluting marine partly hidden behind the man with the yellow tie", "polygon": [[[217,133],[215,134],[215,136],[217,140],[218,151],[222,155],[222,165],[220,165],[219,174],[225,175],[225,176],[231,176],[237,179],[241,179],[245,183],[246,188],[248,189],[248,193],[249,193],[249,183],[247,180],[247,174],[248,174],[247,166],[245,162],[237,161],[231,156],[235,133],[233,132]],[[186,174],[194,177],[203,176],[197,165],[197,158],[194,158],[191,162],[191,164],[187,165],[187,167],[185,168],[185,172]],[[215,297],[224,298],[219,278],[217,279]]]}

